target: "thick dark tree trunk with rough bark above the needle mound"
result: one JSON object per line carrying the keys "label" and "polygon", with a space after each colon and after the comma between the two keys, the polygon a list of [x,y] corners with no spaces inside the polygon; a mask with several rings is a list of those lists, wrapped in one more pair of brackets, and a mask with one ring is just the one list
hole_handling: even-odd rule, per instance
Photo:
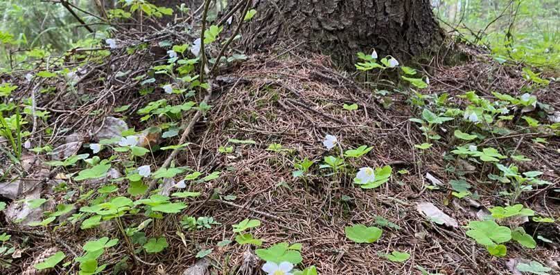
{"label": "thick dark tree trunk with rough bark above the needle mound", "polygon": [[[444,38],[429,0],[254,0],[259,11],[245,30],[258,50],[278,41],[353,66],[356,53],[376,49],[402,61],[439,48]],[[301,47],[301,46],[300,46]]]}

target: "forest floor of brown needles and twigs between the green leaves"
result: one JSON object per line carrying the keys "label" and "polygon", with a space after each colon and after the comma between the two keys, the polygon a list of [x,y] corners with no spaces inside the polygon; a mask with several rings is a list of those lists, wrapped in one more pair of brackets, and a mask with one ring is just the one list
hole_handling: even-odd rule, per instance
{"label": "forest floor of brown needles and twigs between the green leaves", "polygon": [[[169,106],[181,104],[184,95],[164,93],[158,86],[166,83],[160,79],[164,77],[155,77],[155,83],[136,78],[152,66],[164,64],[165,52],[154,54],[153,49],[148,49],[128,55],[121,48],[103,62],[80,67],[81,73],[73,84],[63,77],[51,77],[35,82],[39,84],[34,86],[26,82],[27,72],[19,72],[19,78],[10,79],[13,84],[27,87],[17,91],[14,97],[35,97],[35,110],[50,112],[51,116],[35,122],[33,129],[49,128],[51,135],[33,135],[33,144],[51,144],[55,154],[35,154],[24,149],[22,167],[26,176],[19,180],[21,188],[13,198],[6,193],[2,195],[8,212],[0,214],[0,233],[7,231],[11,235],[8,243],[17,252],[11,263],[3,265],[2,274],[30,272],[37,258],[45,258],[44,253],[52,251],[49,250],[52,247],[67,256],[79,256],[88,240],[103,236],[121,240],[119,245],[107,248],[108,253],[99,259],[100,263],[107,263],[105,272],[113,270],[113,274],[127,269],[128,274],[182,274],[194,263],[204,266],[210,274],[260,274],[263,262],[254,256],[255,247],[237,244],[234,241],[237,234],[231,231],[232,225],[245,218],[261,221],[260,227],[252,229],[252,235],[263,240],[263,247],[282,242],[301,243],[302,265],[315,265],[320,274],[423,274],[421,269],[434,274],[521,274],[515,269],[516,264],[529,260],[556,268],[558,272],[557,222],[538,223],[526,217],[500,222],[511,228],[523,227],[534,238],[543,237],[536,239],[534,249],[507,243],[505,257],[491,256],[486,248],[466,236],[469,222],[489,215],[491,207],[511,202],[505,195],[505,191],[511,193],[511,184],[487,177],[500,173],[496,167],[450,154],[464,144],[455,138],[455,129],[483,133],[479,129],[483,127],[467,124],[458,117],[456,122],[433,129],[441,139],[433,141],[430,149],[415,146],[426,142],[426,136],[420,125],[410,119],[420,117],[426,106],[441,107],[430,95],[448,93],[445,108],[464,109],[469,102],[460,95],[469,91],[476,91],[486,99],[493,98],[493,91],[519,97],[524,87],[532,85],[523,75],[523,66],[500,65],[480,54],[471,55],[464,64],[430,68],[430,86],[418,90],[417,95],[403,89],[397,91],[402,84],[372,93],[372,84],[356,82],[353,80],[356,75],[333,69],[329,57],[322,55],[301,56],[290,52],[251,55],[230,66],[211,82],[212,95],[208,102],[211,108],[202,112],[200,120],[192,122],[186,140],[188,146],[173,159],[175,167],[189,167],[202,175],[220,173],[207,181],[188,183],[186,189],[199,192],[200,196],[181,198],[188,205],[186,209],[155,218],[144,229],[146,237],[164,236],[168,243],[166,249],[157,254],[140,249],[130,258],[130,249],[119,229],[123,224],[129,227],[141,224],[146,220],[143,214],[128,213],[91,229],[80,229],[80,222],[87,214],[67,219],[71,214],[78,214],[77,209],[81,211],[107,194],[140,198],[141,194],[130,194],[131,185],[123,180],[122,175],[130,170],[125,162],[148,164],[155,171],[170,153],[161,147],[177,144],[178,136],[161,138],[155,134],[157,137],[152,138],[150,135],[152,152],[142,157],[128,159],[124,153],[101,151],[98,156],[102,160],[116,156],[112,158],[114,170],[96,180],[74,180],[73,173],[80,171],[78,167],[54,168],[45,162],[51,158],[64,160],[71,155],[91,154],[88,144],[99,142],[100,133],[107,131],[124,128],[141,131],[155,126],[165,130],[173,120],[155,115],[143,122],[143,115],[138,111],[159,99],[166,99]],[[73,64],[67,62],[64,66]],[[155,90],[143,93],[142,89],[148,86]],[[51,91],[37,93],[46,87],[51,87]],[[424,106],[413,103],[421,95],[426,96],[421,100]],[[484,133],[486,136],[478,148],[495,146],[505,155],[524,155],[531,159],[511,163],[516,163],[520,171],[541,171],[540,179],[549,184],[523,191],[516,202],[532,209],[534,216],[559,218],[560,139],[542,125],[550,123],[547,121],[550,114],[543,113],[543,106],[560,110],[560,84],[539,86],[532,95],[539,102],[534,111],[522,113],[520,109],[512,109],[513,119],[500,122],[500,127],[509,131]],[[198,102],[202,97],[193,95]],[[358,104],[358,109],[349,111],[342,108],[344,104]],[[541,126],[523,124],[523,115],[534,117]],[[185,115],[183,123],[188,124],[194,116],[193,109]],[[180,130],[179,136],[184,129]],[[323,146],[325,135],[338,138],[338,146],[331,151]],[[546,143],[539,138],[546,139]],[[281,147],[272,148],[270,144],[281,144]],[[325,157],[362,145],[372,146],[371,151],[361,158],[346,158],[346,167],[339,171],[333,173],[329,168],[320,168]],[[305,158],[315,164],[296,178],[293,172],[297,170],[297,160]],[[354,184],[357,168],[385,165],[393,171],[389,182],[376,189],[362,189]],[[180,176],[167,178],[158,191],[167,189],[167,194],[181,191],[175,190],[180,180]],[[457,187],[452,182],[466,184],[464,187],[470,195],[453,196]],[[90,191],[97,192],[92,195]],[[37,209],[26,208],[23,202],[39,198],[48,201]],[[72,207],[45,226],[25,225],[43,220],[42,211],[55,212],[56,205]],[[426,207],[431,214],[426,214]],[[23,209],[27,209],[25,214],[21,212]],[[447,216],[441,216],[441,212]],[[14,215],[24,222],[15,222]],[[207,217],[207,223],[201,222],[198,229],[188,231],[181,222],[184,216]],[[209,217],[215,223],[208,222]],[[346,238],[345,227],[356,224],[379,227],[383,236],[375,243],[355,243]],[[407,252],[410,258],[404,263],[387,260],[385,254],[393,251]],[[197,259],[199,252],[207,254],[202,255],[205,262]],[[55,267],[51,274],[75,274],[76,270],[77,265],[70,263]]]}

